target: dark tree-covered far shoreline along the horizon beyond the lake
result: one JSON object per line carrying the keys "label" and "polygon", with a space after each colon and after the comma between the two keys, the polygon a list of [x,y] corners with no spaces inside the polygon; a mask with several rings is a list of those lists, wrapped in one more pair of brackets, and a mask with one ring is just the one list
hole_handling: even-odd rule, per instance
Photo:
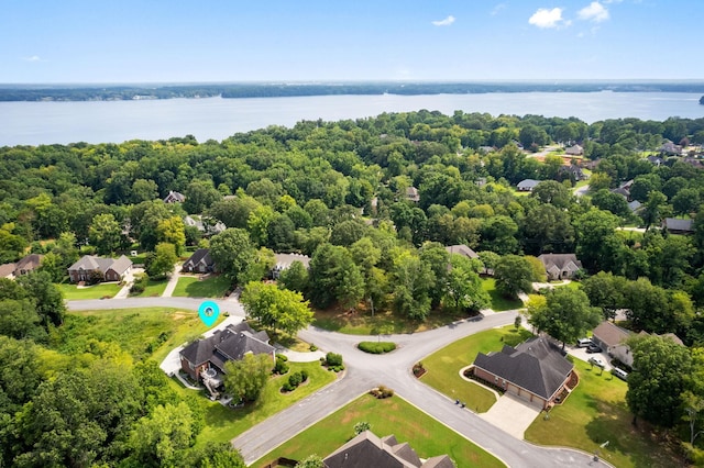
{"label": "dark tree-covered far shoreline along the horizon beyond the lake", "polygon": [[0,102],[424,96],[492,92],[704,92],[704,81],[468,81],[353,83],[0,85]]}

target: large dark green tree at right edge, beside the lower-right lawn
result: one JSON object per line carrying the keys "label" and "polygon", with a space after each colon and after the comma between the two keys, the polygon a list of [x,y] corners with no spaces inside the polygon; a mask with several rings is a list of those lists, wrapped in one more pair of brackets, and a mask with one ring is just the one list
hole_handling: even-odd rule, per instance
{"label": "large dark green tree at right edge, beside the lower-right lawn", "polygon": [[628,375],[626,402],[636,415],[671,427],[682,417],[692,356],[669,338],[638,336],[629,341],[634,370]]}

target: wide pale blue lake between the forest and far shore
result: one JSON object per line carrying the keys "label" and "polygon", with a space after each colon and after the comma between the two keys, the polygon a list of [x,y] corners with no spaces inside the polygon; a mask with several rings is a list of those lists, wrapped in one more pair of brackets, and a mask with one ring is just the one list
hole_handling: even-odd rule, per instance
{"label": "wide pale blue lake between the forest and far shore", "polygon": [[427,109],[463,112],[576,116],[587,123],[638,118],[704,116],[701,94],[683,92],[512,92],[433,96],[317,96],[252,99],[0,102],[0,146],[122,143],[191,134],[221,141],[268,125],[301,120],[337,121]]}

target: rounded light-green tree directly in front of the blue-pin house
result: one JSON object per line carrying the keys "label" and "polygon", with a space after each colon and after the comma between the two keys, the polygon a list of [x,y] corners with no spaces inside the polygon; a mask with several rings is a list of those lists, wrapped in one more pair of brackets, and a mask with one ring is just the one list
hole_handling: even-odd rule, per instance
{"label": "rounded light-green tree directly in front of the blue-pin house", "polygon": [[272,374],[274,363],[266,354],[246,354],[224,365],[224,388],[240,400],[255,401]]}

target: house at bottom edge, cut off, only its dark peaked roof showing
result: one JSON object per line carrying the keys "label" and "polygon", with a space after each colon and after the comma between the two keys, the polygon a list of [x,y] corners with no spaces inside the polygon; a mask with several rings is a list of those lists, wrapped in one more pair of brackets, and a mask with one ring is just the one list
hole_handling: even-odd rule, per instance
{"label": "house at bottom edge, cut off, only its dark peaked roof showing", "polygon": [[422,461],[406,442],[399,444],[394,435],[380,438],[364,431],[323,460],[326,468],[454,468],[447,455]]}

